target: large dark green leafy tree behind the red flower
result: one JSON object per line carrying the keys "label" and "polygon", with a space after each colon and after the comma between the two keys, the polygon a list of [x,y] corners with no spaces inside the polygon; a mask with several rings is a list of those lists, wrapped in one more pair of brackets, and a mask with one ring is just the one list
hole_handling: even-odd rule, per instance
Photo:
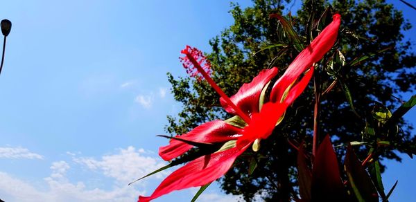
{"label": "large dark green leafy tree behind the red flower", "polygon": [[[290,1],[278,0],[254,0],[253,6],[245,9],[232,3],[229,12],[234,24],[209,42],[212,77],[227,95],[233,95],[263,68],[277,66],[283,73],[331,21],[331,12],[342,16],[338,42],[315,67],[313,84],[286,111],[272,136],[261,142],[255,154],[257,169],[249,174],[250,160],[237,160],[220,179],[225,192],[242,194],[245,201],[260,193],[266,201],[289,201],[297,194],[297,152],[288,139],[297,144],[305,140],[306,146],[312,147],[315,107],[320,140],[330,134],[333,144],[341,145],[366,138],[365,129],[372,129],[369,122],[374,111],[397,108],[399,95],[415,90],[416,57],[402,34],[411,26],[392,5],[384,0],[304,1],[297,15],[286,17],[297,35],[290,26],[269,17],[288,6]],[[202,122],[229,118],[207,82],[175,78],[169,73],[168,80],[175,100],[183,106],[179,114],[168,116],[169,134],[185,134]],[[415,154],[416,138],[410,134],[413,127],[402,119],[398,126],[395,145],[384,149],[379,158],[401,160],[395,149]],[[346,147],[337,148],[340,156],[345,154]],[[358,156],[363,159],[367,154],[361,148]],[[250,149],[247,153],[253,155]]]}

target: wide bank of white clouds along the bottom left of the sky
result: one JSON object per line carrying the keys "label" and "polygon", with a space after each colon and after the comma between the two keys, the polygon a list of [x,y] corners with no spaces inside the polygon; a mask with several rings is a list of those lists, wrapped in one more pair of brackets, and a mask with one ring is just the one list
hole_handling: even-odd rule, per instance
{"label": "wide bank of white clouds along the bottom left of the sky", "polygon": [[[73,153],[71,153],[73,154]],[[71,155],[70,154],[70,155]],[[64,160],[51,164],[51,174],[44,178],[46,187],[39,187],[40,183],[29,183],[11,174],[0,172],[0,199],[3,201],[136,201],[140,194],[146,194],[146,183],[135,183],[128,186],[128,182],[144,174],[166,165],[159,158],[153,158],[153,153],[144,149],[128,147],[118,149],[115,154],[95,158],[71,155],[73,163]],[[71,166],[70,166],[71,165]],[[71,182],[67,172],[85,165],[87,171],[103,174],[113,179],[109,189],[89,188],[84,181]],[[166,172],[153,176],[162,178]],[[151,177],[150,177],[151,178]],[[87,180],[88,181],[88,180]],[[159,182],[159,180],[158,180]]]}

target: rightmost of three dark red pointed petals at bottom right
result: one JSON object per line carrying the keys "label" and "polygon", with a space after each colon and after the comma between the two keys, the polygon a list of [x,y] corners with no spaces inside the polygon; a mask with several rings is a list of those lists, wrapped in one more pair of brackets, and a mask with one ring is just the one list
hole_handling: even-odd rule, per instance
{"label": "rightmost of three dark red pointed petals at bottom right", "polygon": [[347,172],[349,183],[358,201],[379,201],[379,196],[371,178],[361,165],[361,161],[354,154],[351,145],[347,147],[345,172]]}

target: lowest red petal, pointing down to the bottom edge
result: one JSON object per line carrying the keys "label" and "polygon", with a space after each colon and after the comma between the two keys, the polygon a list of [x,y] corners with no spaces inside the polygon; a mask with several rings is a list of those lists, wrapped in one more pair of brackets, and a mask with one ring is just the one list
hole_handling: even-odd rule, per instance
{"label": "lowest red petal, pointing down to the bottom edge", "polygon": [[248,146],[250,146],[250,143],[246,142],[244,145],[227,149],[223,152],[201,156],[191,161],[167,176],[151,196],[139,196],[139,201],[150,201],[174,190],[198,187],[215,181],[228,171],[234,160]]}

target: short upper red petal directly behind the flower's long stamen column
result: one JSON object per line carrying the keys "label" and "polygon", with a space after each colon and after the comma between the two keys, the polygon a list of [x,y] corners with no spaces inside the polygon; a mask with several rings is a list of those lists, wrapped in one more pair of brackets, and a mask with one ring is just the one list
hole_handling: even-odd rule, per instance
{"label": "short upper red petal directly behind the flower's long stamen column", "polygon": [[[235,95],[232,95],[230,99],[248,116],[250,116],[250,113],[259,112],[261,90],[263,90],[264,86],[272,79],[272,77],[277,75],[277,71],[278,69],[275,67],[263,69],[259,75],[253,78],[252,82],[243,84],[239,91]],[[223,98],[220,98],[220,102],[225,111],[237,115],[236,111],[234,111]]]}

